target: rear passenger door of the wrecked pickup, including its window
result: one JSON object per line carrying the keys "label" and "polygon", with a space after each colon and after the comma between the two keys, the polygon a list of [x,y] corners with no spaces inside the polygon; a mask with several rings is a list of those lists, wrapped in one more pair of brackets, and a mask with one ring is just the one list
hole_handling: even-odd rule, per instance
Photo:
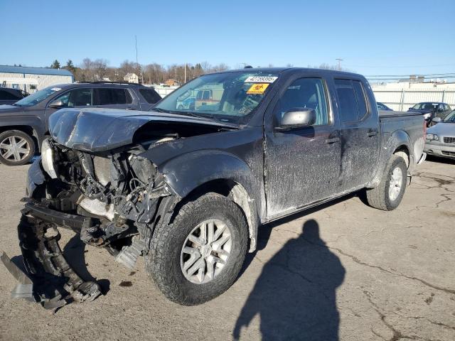
{"label": "rear passenger door of the wrecked pickup, including its window", "polygon": [[378,165],[380,131],[378,110],[370,105],[368,85],[362,80],[335,79],[341,121],[340,190],[365,185]]}

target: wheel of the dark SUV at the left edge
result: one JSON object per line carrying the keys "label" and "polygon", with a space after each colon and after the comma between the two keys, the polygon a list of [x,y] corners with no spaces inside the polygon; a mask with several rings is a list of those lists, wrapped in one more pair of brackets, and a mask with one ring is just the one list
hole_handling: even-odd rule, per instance
{"label": "wheel of the dark SUV at the left edge", "polygon": [[23,131],[8,130],[0,134],[0,163],[6,166],[25,165],[35,151],[35,140]]}

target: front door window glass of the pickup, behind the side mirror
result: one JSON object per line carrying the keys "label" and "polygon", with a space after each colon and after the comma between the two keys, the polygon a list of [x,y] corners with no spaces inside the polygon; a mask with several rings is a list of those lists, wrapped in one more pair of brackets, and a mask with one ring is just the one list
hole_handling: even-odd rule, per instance
{"label": "front door window glass of the pickup, behind the side mirror", "polygon": [[280,117],[292,108],[311,108],[316,112],[315,126],[328,124],[326,90],[320,78],[300,78],[284,92],[277,105]]}

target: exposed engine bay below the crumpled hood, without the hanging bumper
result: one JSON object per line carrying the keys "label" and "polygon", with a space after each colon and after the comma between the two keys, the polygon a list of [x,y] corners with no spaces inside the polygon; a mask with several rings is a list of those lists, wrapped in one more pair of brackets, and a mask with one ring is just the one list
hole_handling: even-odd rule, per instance
{"label": "exposed engine bay below the crumpled hood, without the hanging bumper", "polygon": [[[166,136],[156,144],[173,139]],[[160,197],[171,195],[164,178],[151,161],[138,156],[141,146],[117,153],[94,155],[43,143],[43,168],[52,180],[46,183],[42,203],[50,209],[91,217],[82,226],[83,242],[107,247],[118,256],[122,248],[143,240],[146,224],[156,213]],[[122,261],[122,258],[119,258]],[[129,267],[134,261],[122,261]]]}

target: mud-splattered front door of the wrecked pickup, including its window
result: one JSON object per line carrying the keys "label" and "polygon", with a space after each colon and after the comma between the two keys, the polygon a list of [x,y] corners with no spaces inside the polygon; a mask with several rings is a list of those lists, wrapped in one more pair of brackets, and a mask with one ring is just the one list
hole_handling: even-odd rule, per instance
{"label": "mud-splattered front door of the wrecked pickup, including its window", "polygon": [[[338,193],[341,140],[323,77],[290,80],[266,114],[267,217],[279,217]],[[316,111],[313,126],[275,129],[291,108]],[[269,117],[269,119],[267,119]]]}

